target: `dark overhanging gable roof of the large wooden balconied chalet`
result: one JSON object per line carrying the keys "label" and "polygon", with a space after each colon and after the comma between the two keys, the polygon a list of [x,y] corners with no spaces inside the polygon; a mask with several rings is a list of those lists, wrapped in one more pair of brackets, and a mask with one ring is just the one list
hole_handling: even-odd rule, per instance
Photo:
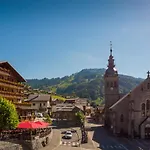
{"label": "dark overhanging gable roof of the large wooden balconied chalet", "polygon": [[18,82],[26,82],[26,80],[7,61],[0,61],[0,67],[11,70],[14,76],[17,77]]}

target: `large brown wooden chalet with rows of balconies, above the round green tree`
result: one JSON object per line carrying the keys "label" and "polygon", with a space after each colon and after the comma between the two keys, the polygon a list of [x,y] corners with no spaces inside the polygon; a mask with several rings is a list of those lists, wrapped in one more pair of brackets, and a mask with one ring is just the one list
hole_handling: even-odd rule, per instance
{"label": "large brown wooden chalet with rows of balconies, above the round green tree", "polygon": [[8,63],[0,62],[0,96],[19,103],[24,97],[25,79]]}

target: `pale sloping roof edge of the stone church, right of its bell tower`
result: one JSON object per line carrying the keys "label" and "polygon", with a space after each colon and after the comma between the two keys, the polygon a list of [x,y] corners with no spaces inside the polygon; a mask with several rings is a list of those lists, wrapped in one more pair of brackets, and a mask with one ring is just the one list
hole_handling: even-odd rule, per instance
{"label": "pale sloping roof edge of the stone church, right of its bell tower", "polygon": [[138,89],[142,84],[144,84],[144,82],[147,80],[148,78],[146,78],[143,82],[141,82],[138,86],[136,86],[133,90],[131,90],[129,93],[127,93],[126,95],[124,95],[122,98],[120,98],[116,103],[114,103],[109,109],[113,109],[114,107],[116,107],[118,104],[120,104],[127,96],[129,96],[132,92],[134,92],[136,89]]}

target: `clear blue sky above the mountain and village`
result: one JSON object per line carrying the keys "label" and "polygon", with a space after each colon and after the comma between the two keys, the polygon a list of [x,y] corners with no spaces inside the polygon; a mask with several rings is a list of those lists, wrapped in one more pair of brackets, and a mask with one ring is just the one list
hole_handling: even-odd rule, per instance
{"label": "clear blue sky above the mountain and village", "polygon": [[150,70],[149,0],[0,0],[0,60],[26,79],[106,68]]}

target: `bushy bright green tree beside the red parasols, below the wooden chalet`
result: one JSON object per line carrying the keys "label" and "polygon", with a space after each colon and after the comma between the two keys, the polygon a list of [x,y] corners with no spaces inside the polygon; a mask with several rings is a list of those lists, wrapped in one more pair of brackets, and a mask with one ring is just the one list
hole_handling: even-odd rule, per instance
{"label": "bushy bright green tree beside the red parasols, below the wooden chalet", "polygon": [[15,105],[0,97],[0,129],[15,129],[19,123]]}

